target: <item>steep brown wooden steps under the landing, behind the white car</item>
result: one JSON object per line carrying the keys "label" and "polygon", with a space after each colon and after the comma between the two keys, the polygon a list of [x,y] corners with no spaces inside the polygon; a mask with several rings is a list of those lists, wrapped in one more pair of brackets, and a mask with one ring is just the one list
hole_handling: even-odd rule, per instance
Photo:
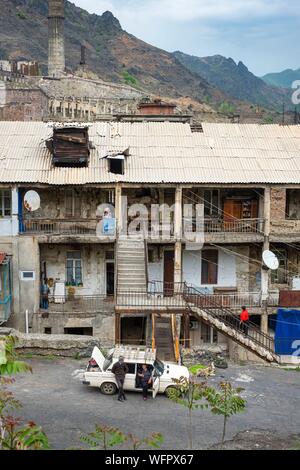
{"label": "steep brown wooden steps under the landing, behind the white car", "polygon": [[176,362],[170,316],[161,317],[157,315],[155,317],[154,338],[159,359],[162,361]]}

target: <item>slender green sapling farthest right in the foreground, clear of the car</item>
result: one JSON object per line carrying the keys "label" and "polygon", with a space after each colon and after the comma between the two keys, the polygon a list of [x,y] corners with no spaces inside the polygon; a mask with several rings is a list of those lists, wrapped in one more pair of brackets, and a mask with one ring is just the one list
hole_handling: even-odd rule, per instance
{"label": "slender green sapling farthest right in the foreground, clear of the car", "polygon": [[219,384],[219,390],[220,391],[212,387],[207,388],[206,399],[210,405],[211,412],[214,415],[222,415],[224,417],[221,441],[223,446],[228,419],[244,411],[247,402],[240,396],[243,389],[234,388],[230,382],[221,382]]}

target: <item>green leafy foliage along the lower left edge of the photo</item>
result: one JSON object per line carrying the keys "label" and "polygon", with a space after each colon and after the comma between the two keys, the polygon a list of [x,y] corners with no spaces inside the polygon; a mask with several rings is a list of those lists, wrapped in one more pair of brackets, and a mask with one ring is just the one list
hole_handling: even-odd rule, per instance
{"label": "green leafy foliage along the lower left edge of the photo", "polygon": [[39,426],[33,421],[22,425],[20,418],[9,414],[22,406],[6,388],[14,381],[11,376],[32,372],[28,364],[17,359],[15,345],[12,336],[0,339],[0,450],[48,449],[48,439]]}

